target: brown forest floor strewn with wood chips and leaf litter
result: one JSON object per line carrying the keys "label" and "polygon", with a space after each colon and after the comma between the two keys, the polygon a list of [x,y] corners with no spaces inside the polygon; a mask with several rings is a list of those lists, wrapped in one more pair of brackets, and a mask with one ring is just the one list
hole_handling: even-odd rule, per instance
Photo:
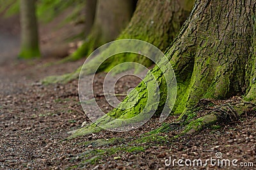
{"label": "brown forest floor strewn with wood chips and leaf litter", "polygon": [[[79,103],[77,80],[65,85],[38,82],[45,76],[74,71],[84,60],[54,66],[48,63],[58,58],[51,56],[17,60],[13,54],[17,52],[17,41],[17,35],[8,31],[0,36],[0,169],[255,169],[255,113],[185,136],[179,136],[182,130],[179,126],[168,124],[177,117],[169,117],[164,124],[152,118],[134,131],[102,131],[63,140],[70,136],[68,132],[90,122]],[[97,74],[97,81],[102,82],[104,75]],[[127,76],[116,83],[116,90],[125,93],[137,84],[136,78]],[[102,83],[98,83],[95,94],[101,93]],[[102,110],[111,110],[102,97],[97,103]],[[207,112],[201,110],[204,111]],[[154,131],[159,127],[161,131]],[[216,153],[222,153],[222,157],[217,159]],[[170,158],[176,159],[175,166],[165,165]],[[221,167],[218,163],[214,166],[210,162],[207,166],[177,164],[178,159],[202,159],[205,164],[211,158],[219,162],[228,159],[230,166]],[[237,166],[232,166],[235,159]],[[241,163],[248,167],[242,167]]]}

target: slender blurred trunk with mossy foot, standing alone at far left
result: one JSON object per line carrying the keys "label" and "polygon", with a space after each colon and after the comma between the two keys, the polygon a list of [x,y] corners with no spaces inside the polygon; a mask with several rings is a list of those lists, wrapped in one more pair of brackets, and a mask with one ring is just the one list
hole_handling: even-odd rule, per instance
{"label": "slender blurred trunk with mossy foot, standing alone at far left", "polygon": [[21,45],[19,57],[40,57],[35,0],[20,0]]}

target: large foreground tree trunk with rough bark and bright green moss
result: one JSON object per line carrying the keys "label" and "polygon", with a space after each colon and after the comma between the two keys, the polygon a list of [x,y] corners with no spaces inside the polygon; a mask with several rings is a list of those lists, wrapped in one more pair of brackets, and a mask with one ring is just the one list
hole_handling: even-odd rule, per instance
{"label": "large foreground tree trunk with rough bark and bright green moss", "polygon": [[[175,114],[188,113],[202,98],[227,99],[247,94],[245,99],[255,102],[255,6],[255,0],[196,1],[190,17],[167,53],[177,78]],[[161,113],[163,105],[169,103],[166,101],[168,83],[164,81],[159,67],[154,67],[151,73],[156,76],[162,92],[156,111]],[[147,87],[141,82],[135,90],[140,97],[133,108],[114,109],[108,115],[115,118],[138,115],[145,107]],[[129,106],[128,97],[123,104]],[[170,108],[172,104],[169,104]],[[107,123],[104,118],[97,122]],[[93,124],[77,131],[74,136],[92,131],[99,131],[99,128]]]}

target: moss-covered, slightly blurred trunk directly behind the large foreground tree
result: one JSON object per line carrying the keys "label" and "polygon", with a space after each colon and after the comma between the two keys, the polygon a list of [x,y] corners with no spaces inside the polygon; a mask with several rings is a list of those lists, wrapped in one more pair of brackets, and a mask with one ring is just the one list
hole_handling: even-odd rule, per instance
{"label": "moss-covered, slightly blurred trunk directly behind the large foreground tree", "polygon": [[[188,0],[139,0],[131,22],[117,39],[140,39],[164,51],[188,18],[193,4],[194,1]],[[101,60],[95,58],[88,62],[89,72],[90,67],[98,66]],[[99,71],[109,71],[123,62],[138,62],[144,66],[152,65],[152,61],[146,57],[122,53],[104,62],[99,67]],[[126,69],[131,69],[131,67]],[[122,67],[119,72],[126,69]]]}

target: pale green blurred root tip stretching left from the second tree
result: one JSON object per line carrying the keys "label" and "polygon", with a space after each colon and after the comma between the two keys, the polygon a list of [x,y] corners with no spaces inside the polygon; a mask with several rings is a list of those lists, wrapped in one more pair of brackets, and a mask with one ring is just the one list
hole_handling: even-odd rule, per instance
{"label": "pale green blurred root tip stretching left from the second tree", "polygon": [[50,85],[50,84],[54,84],[54,83],[68,83],[69,81],[72,81],[76,78],[79,77],[79,73],[81,71],[81,67],[79,67],[76,71],[72,72],[72,73],[67,73],[67,74],[63,74],[60,76],[48,76],[46,78],[44,78],[43,80],[41,80],[41,83],[43,85]]}

